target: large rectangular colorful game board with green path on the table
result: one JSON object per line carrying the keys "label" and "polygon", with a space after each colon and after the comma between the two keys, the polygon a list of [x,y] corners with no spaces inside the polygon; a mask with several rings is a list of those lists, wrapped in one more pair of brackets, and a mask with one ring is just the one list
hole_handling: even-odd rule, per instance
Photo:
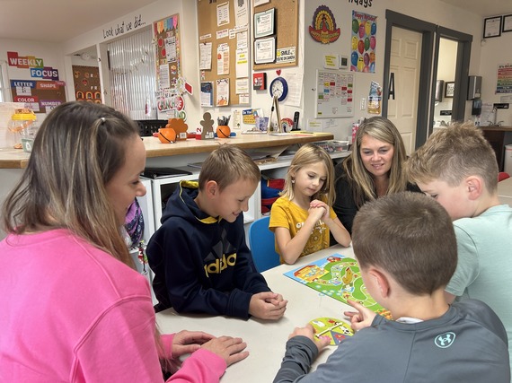
{"label": "large rectangular colorful game board with green path on the table", "polygon": [[389,312],[366,292],[359,273],[358,261],[354,258],[334,254],[289,271],[285,275],[335,300],[343,303],[355,300],[378,314],[389,316]]}

